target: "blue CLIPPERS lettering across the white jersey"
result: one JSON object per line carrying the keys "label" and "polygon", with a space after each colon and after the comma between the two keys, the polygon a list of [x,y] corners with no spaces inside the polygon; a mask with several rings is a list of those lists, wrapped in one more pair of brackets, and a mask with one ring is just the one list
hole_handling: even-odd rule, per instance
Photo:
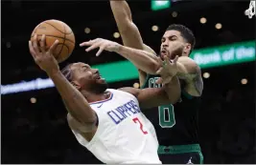
{"label": "blue CLIPPERS lettering across the white jersey", "polygon": [[119,124],[128,116],[131,116],[135,113],[141,113],[141,111],[136,103],[133,100],[130,100],[124,105],[116,108],[115,110],[107,112],[107,115],[112,119],[115,124]]}

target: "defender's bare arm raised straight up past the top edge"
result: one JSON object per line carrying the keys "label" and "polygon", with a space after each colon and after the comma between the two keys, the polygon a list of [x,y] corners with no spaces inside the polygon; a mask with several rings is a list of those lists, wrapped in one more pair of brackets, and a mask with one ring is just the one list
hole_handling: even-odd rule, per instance
{"label": "defender's bare arm raised straight up past the top edge", "polygon": [[[151,52],[155,55],[156,53],[149,46],[143,43],[140,31],[132,21],[131,11],[128,7],[127,1],[110,0],[110,6],[124,45],[130,48]],[[134,64],[132,60],[130,61]],[[152,65],[150,60],[147,64],[149,66]],[[136,67],[139,71],[140,84],[144,84],[147,73],[151,72],[144,70],[145,67]]]}

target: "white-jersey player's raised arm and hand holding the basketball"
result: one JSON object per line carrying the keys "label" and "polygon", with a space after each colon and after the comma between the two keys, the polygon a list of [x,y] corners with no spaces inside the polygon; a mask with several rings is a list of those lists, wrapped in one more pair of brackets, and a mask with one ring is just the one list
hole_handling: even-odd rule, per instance
{"label": "white-jersey player's raised arm and hand holding the basketball", "polygon": [[[40,43],[40,46],[37,45]],[[45,49],[45,35],[41,41],[38,41],[35,34],[35,40],[30,41],[30,52],[35,59],[35,63],[45,71],[53,80],[58,93],[60,93],[69,113],[83,125],[93,125],[97,121],[97,116],[90,108],[84,96],[73,86],[64,75],[59,71],[58,62],[53,56],[57,49],[58,41],[50,48]]]}

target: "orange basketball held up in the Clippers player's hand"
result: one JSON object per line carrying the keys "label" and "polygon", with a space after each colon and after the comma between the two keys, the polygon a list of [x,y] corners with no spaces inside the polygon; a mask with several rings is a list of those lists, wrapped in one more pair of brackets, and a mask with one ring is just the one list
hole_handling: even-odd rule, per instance
{"label": "orange basketball held up in the Clippers player's hand", "polygon": [[75,48],[75,35],[73,31],[61,21],[52,19],[37,25],[31,35],[32,41],[34,40],[35,33],[38,39],[42,37],[42,34],[45,34],[47,49],[58,39],[58,47],[54,52],[58,63],[66,60]]}

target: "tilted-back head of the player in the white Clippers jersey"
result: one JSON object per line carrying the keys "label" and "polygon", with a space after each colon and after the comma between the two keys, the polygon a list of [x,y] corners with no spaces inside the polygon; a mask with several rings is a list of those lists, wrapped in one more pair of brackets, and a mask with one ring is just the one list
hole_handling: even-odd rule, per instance
{"label": "tilted-back head of the player in the white Clippers jersey", "polygon": [[105,79],[98,69],[92,69],[88,64],[72,63],[61,71],[68,81],[80,92],[104,93],[107,89]]}

